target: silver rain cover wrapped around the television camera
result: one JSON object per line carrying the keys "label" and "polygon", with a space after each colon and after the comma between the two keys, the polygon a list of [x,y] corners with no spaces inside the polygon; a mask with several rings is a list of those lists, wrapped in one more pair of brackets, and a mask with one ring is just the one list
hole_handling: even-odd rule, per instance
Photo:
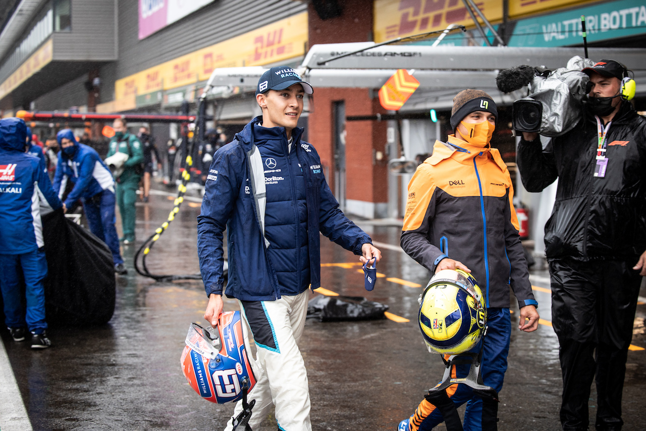
{"label": "silver rain cover wrapped around the television camera", "polygon": [[541,131],[543,136],[561,136],[581,120],[582,100],[586,95],[588,76],[581,69],[594,61],[580,56],[570,58],[566,67],[560,67],[548,76],[535,76],[529,84],[527,99],[543,105]]}

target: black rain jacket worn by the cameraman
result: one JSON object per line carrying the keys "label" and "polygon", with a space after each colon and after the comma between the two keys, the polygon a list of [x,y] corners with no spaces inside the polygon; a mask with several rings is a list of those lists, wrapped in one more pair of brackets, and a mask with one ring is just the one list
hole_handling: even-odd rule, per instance
{"label": "black rain jacket worn by the cameraman", "polygon": [[628,260],[646,250],[646,119],[623,102],[607,137],[605,177],[594,177],[597,121],[586,113],[572,131],[518,145],[523,185],[539,192],[559,178],[545,224],[548,259]]}

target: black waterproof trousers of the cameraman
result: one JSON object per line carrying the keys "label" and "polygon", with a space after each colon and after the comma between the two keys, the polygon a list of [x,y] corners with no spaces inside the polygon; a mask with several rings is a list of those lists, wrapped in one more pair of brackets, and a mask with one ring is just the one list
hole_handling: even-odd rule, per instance
{"label": "black waterproof trousers of the cameraman", "polygon": [[588,429],[596,375],[596,427],[621,426],[621,393],[640,291],[634,262],[550,260],[552,324],[563,372],[563,430]]}

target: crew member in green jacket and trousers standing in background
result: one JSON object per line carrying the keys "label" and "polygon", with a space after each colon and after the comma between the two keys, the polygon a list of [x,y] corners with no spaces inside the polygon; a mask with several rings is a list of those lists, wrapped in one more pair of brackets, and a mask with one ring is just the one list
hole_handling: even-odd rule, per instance
{"label": "crew member in green jacket and trousers standing in background", "polygon": [[123,228],[123,244],[134,243],[134,218],[137,201],[137,189],[143,173],[143,149],[136,135],[128,132],[125,120],[117,118],[112,123],[114,137],[110,140],[110,149],[107,157],[116,152],[128,154],[128,160],[123,163],[123,173],[115,178],[116,198],[121,213],[121,227]]}

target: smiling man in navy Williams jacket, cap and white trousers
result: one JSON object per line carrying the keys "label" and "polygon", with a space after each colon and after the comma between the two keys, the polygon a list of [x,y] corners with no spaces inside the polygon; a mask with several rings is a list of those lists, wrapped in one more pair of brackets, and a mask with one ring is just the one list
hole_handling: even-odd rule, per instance
{"label": "smiling man in navy Williams jacket, cap and white trousers", "polygon": [[[258,82],[262,116],[214,154],[198,216],[198,255],[213,326],[222,313],[223,233],[229,270],[225,294],[239,300],[256,342],[258,382],[249,397],[256,429],[275,406],[278,428],[311,430],[309,387],[298,350],[307,315],[307,288],[320,286],[319,231],[340,246],[379,261],[371,239],[339,209],[314,147],[297,127],[312,87],[289,67]],[[236,405],[234,415],[242,411]],[[229,423],[226,430],[231,430]]]}

